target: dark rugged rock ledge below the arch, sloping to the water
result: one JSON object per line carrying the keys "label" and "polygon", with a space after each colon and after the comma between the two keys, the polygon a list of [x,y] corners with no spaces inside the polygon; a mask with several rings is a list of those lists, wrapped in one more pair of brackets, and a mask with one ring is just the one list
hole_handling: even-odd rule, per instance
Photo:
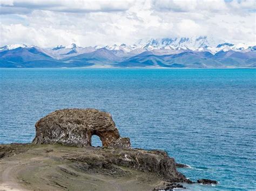
{"label": "dark rugged rock ledge below the arch, sloping to the water", "polygon": [[117,165],[142,172],[154,173],[172,182],[191,182],[177,171],[176,162],[164,151],[105,148],[95,150],[94,152],[97,154],[86,154],[87,151],[84,151],[84,153],[70,153],[64,159],[79,162],[86,171],[93,168],[104,169],[105,166],[114,167]]}

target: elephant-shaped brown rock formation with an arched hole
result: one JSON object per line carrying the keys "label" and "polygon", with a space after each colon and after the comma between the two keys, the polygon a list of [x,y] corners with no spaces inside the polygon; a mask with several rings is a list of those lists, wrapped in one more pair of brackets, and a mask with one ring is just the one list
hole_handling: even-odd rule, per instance
{"label": "elephant-shaped brown rock formation with an arched hole", "polygon": [[109,113],[96,109],[62,109],[36,123],[33,144],[60,143],[68,146],[91,146],[91,137],[99,136],[104,147],[130,147],[122,138]]}

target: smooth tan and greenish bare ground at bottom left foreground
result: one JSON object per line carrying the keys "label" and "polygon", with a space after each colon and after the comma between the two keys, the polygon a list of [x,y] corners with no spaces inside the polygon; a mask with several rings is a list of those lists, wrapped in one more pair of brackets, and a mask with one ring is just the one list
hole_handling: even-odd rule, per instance
{"label": "smooth tan and greenish bare ground at bottom left foreground", "polygon": [[125,174],[84,171],[62,158],[83,149],[43,145],[4,157],[0,160],[0,190],[152,190],[163,185],[151,173],[125,167],[121,167]]}

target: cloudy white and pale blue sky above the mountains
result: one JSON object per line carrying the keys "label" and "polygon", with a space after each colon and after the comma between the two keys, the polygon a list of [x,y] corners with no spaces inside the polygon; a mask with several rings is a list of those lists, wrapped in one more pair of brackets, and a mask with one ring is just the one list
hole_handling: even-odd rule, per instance
{"label": "cloudy white and pale blue sky above the mountains", "polygon": [[256,45],[256,0],[0,0],[0,46],[209,36]]}

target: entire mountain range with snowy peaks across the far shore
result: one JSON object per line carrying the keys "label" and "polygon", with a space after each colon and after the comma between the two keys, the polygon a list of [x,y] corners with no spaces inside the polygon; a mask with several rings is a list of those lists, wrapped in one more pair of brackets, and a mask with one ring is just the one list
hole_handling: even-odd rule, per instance
{"label": "entire mountain range with snowy peaks across the far shore", "polygon": [[256,67],[256,46],[206,36],[140,39],[132,45],[93,47],[15,44],[0,47],[0,67]]}

